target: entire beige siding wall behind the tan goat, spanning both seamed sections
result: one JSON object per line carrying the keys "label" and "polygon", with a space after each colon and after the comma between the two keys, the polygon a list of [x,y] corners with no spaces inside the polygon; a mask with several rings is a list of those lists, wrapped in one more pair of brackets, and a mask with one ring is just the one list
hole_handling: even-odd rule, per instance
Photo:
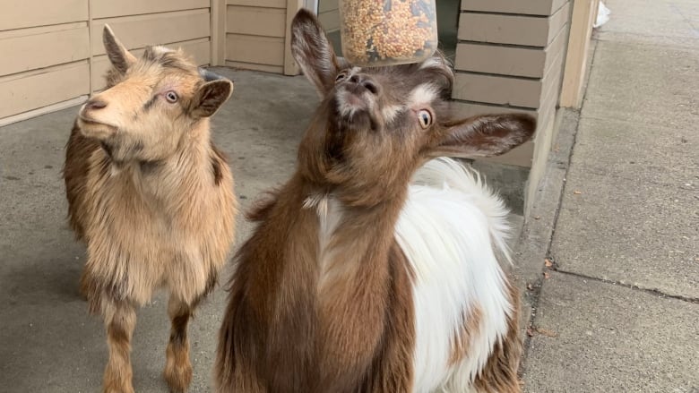
{"label": "entire beige siding wall behind the tan goat, spanning both seamed sections", "polygon": [[104,87],[109,23],[139,55],[183,47],[211,64],[211,0],[6,0],[0,13],[0,125],[87,99]]}

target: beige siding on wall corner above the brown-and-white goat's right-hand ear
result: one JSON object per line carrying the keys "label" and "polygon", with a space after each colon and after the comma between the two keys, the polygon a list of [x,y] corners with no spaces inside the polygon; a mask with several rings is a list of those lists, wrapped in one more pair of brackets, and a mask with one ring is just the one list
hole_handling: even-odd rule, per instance
{"label": "beige siding on wall corner above the brown-and-white goat's right-hand ear", "polygon": [[531,167],[548,156],[565,47],[568,0],[462,0],[453,98],[465,115],[524,112],[533,141],[488,160]]}

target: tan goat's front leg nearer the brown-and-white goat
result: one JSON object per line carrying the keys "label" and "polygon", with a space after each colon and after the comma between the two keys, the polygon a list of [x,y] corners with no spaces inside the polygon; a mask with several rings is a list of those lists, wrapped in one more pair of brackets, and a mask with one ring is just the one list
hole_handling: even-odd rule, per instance
{"label": "tan goat's front leg nearer the brown-and-white goat", "polygon": [[189,361],[189,340],[187,339],[187,322],[192,316],[193,308],[170,295],[168,315],[172,322],[167,350],[167,363],[163,376],[168,381],[170,391],[186,391],[192,382],[192,363]]}

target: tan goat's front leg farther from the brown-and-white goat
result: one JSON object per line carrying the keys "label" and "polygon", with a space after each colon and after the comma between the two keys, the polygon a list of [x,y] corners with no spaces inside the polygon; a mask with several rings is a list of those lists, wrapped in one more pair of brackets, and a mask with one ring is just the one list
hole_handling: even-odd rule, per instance
{"label": "tan goat's front leg farther from the brown-and-white goat", "polygon": [[108,303],[104,308],[109,361],[104,372],[105,393],[134,393],[131,384],[131,336],[136,326],[134,305],[128,302]]}

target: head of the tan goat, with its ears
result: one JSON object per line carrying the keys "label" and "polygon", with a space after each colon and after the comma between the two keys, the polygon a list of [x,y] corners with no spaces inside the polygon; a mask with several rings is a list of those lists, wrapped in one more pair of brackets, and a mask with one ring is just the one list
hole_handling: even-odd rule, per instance
{"label": "head of the tan goat, with its ears", "polygon": [[113,65],[108,89],[82,106],[78,125],[116,162],[167,158],[233,89],[230,81],[198,69],[180,50],[147,47],[136,58],[108,26],[103,39]]}

